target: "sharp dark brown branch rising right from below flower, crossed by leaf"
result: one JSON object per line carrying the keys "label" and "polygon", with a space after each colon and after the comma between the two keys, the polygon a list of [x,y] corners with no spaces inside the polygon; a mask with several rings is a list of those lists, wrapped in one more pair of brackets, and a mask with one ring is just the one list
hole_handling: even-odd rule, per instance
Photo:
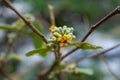
{"label": "sharp dark brown branch rising right from below flower, crossed by leaf", "polygon": [[[96,29],[98,28],[103,22],[107,21],[109,18],[113,17],[114,15],[120,13],[120,6],[118,6],[117,8],[115,8],[113,11],[111,11],[109,14],[107,14],[105,17],[103,17],[101,20],[99,20],[96,24],[94,24],[93,26],[91,26],[91,28],[89,29],[89,31],[86,33],[86,35],[83,37],[83,39],[81,40],[81,42],[84,42],[89,35]],[[78,50],[79,48],[74,48],[71,51],[69,51],[68,53],[66,53],[63,57],[62,60],[69,56],[70,54],[72,54],[73,52],[75,52],[76,50]]]}

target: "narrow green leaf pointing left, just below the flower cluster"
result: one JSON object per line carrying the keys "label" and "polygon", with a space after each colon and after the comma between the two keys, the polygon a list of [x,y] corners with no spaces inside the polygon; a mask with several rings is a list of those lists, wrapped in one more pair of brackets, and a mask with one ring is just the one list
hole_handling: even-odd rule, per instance
{"label": "narrow green leaf pointing left, just below the flower cluster", "polygon": [[48,49],[47,48],[38,48],[26,53],[26,56],[32,56],[34,54],[40,54],[41,56],[45,57],[47,55]]}

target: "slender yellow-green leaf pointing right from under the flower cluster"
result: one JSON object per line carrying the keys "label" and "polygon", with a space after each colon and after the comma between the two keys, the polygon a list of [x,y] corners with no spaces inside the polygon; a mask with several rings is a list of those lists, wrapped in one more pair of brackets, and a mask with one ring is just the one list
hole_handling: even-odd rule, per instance
{"label": "slender yellow-green leaf pointing right from under the flower cluster", "polygon": [[76,46],[84,50],[102,48],[101,46],[96,46],[96,45],[92,45],[90,43],[85,43],[85,42],[73,42],[73,43],[69,43],[68,46]]}

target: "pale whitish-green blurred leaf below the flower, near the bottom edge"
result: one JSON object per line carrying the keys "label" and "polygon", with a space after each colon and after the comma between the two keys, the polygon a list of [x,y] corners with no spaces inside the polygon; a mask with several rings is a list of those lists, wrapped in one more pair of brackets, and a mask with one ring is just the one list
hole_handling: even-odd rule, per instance
{"label": "pale whitish-green blurred leaf below the flower, near the bottom edge", "polygon": [[75,74],[86,74],[86,75],[93,75],[93,70],[91,69],[82,69],[82,68],[75,68]]}

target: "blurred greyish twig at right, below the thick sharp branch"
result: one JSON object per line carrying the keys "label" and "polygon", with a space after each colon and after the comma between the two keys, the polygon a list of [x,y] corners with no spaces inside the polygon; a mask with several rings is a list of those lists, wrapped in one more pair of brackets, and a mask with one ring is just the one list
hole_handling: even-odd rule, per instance
{"label": "blurred greyish twig at right, below the thick sharp branch", "polygon": [[90,54],[90,55],[87,55],[87,56],[82,57],[82,58],[80,58],[80,59],[77,59],[77,60],[75,60],[75,61],[69,62],[68,64],[74,63],[74,62],[75,62],[75,63],[78,63],[78,62],[81,62],[81,61],[83,61],[83,60],[85,60],[85,59],[88,59],[88,58],[92,58],[92,57],[97,57],[97,56],[103,55],[103,54],[105,54],[105,53],[107,53],[107,52],[109,52],[109,51],[111,51],[111,50],[113,50],[113,49],[115,49],[115,48],[117,48],[117,47],[119,47],[119,46],[120,46],[120,44],[117,44],[117,45],[115,45],[115,46],[113,46],[113,47],[111,47],[111,48],[109,48],[109,49],[106,49],[106,50],[104,50],[104,51],[102,51],[102,52],[92,53],[92,54]]}

